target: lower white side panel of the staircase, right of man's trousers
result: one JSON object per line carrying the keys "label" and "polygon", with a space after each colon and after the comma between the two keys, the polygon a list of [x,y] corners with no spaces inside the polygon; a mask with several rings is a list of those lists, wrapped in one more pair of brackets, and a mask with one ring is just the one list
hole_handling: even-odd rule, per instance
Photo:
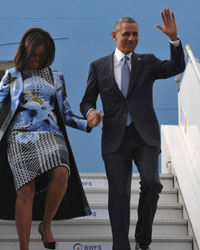
{"label": "lower white side panel of the staircase, right of man's trousers", "polygon": [[[199,245],[200,185],[198,177],[195,171],[193,171],[191,156],[187,150],[179,126],[162,126],[161,131],[162,145],[166,144],[169,150],[169,158],[165,158],[165,161],[171,161],[171,171],[177,176],[193,232]],[[166,162],[162,161],[162,164],[165,165]]]}

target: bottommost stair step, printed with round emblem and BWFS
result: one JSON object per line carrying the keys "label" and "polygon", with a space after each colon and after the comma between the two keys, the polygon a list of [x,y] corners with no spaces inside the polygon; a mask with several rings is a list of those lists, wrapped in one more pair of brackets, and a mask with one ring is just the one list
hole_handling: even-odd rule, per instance
{"label": "bottommost stair step, printed with round emblem and BWFS", "polygon": [[[131,248],[134,249],[134,237],[130,237]],[[0,249],[18,249],[18,239],[15,236],[0,237]],[[151,248],[153,250],[192,250],[192,237],[153,237]],[[44,250],[39,236],[32,236],[31,250]],[[57,250],[111,250],[112,238],[110,236],[58,236]]]}

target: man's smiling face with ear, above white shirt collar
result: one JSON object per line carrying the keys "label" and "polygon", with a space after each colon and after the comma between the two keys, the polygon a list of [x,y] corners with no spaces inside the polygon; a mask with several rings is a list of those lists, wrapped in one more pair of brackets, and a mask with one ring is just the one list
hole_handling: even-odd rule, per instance
{"label": "man's smiling face with ear, above white shirt collar", "polygon": [[122,23],[119,30],[112,32],[117,48],[124,54],[133,52],[138,44],[138,26],[136,23]]}

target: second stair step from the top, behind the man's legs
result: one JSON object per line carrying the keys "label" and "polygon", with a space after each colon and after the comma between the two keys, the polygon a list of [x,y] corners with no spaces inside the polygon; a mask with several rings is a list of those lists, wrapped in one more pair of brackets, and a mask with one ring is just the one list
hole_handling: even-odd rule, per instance
{"label": "second stair step from the top, behind the man's legs", "polygon": [[[107,202],[108,200],[108,188],[84,188],[88,202]],[[137,202],[139,199],[139,189],[131,190],[131,202]],[[178,189],[165,188],[162,190],[159,198],[159,204],[177,203]]]}

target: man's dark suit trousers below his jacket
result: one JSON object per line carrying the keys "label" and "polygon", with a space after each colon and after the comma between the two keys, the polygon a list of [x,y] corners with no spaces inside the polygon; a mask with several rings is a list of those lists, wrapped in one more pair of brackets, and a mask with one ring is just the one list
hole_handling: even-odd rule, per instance
{"label": "man's dark suit trousers below his jacket", "polygon": [[117,152],[103,156],[109,185],[108,210],[113,235],[113,250],[130,250],[130,197],[132,161],[140,174],[140,197],[135,240],[140,248],[151,243],[152,224],[162,190],[158,173],[158,147],[148,146],[133,123],[126,128]]}

